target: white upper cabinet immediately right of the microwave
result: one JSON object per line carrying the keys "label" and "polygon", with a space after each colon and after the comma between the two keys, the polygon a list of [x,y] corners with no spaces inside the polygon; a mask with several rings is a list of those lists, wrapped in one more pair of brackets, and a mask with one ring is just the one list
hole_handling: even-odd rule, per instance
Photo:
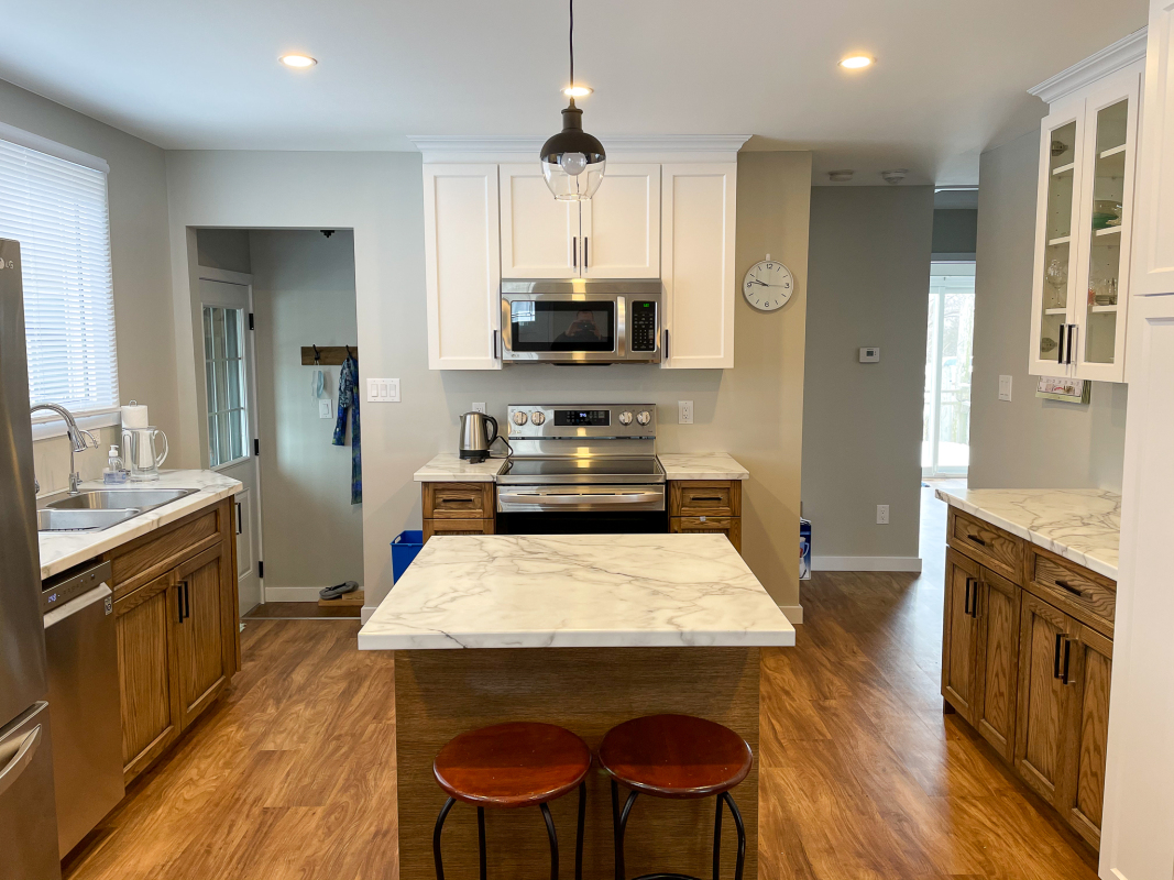
{"label": "white upper cabinet immediately right of the microwave", "polygon": [[661,167],[666,367],[734,366],[736,180],[736,162]]}

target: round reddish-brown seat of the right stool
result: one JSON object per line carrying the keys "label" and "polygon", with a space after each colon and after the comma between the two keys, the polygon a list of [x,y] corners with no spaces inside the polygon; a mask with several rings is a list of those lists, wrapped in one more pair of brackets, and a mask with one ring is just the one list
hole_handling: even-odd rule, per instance
{"label": "round reddish-brown seat of the right stool", "polygon": [[652,715],[608,731],[599,763],[629,788],[657,798],[706,798],[750,772],[750,746],[729,727],[689,715]]}

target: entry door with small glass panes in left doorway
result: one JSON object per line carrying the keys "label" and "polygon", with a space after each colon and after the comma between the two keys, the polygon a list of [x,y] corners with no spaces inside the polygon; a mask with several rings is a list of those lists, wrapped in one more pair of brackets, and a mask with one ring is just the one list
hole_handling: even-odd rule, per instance
{"label": "entry door with small glass panes in left doorway", "polygon": [[204,340],[204,390],[208,467],[239,480],[236,496],[236,560],[241,614],[264,601],[261,560],[261,468],[257,434],[252,287],[249,276],[224,280],[201,269],[200,305]]}

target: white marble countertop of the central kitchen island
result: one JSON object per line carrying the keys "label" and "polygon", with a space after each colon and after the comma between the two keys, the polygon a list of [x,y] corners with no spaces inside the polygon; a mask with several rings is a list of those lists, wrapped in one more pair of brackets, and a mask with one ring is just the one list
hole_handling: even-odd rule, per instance
{"label": "white marble countertop of the central kitchen island", "polygon": [[433,537],[359,650],[794,645],[724,535]]}

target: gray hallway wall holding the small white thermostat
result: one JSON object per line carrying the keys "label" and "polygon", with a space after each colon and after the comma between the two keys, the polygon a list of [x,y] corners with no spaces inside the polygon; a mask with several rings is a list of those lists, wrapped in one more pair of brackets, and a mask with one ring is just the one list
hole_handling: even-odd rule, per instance
{"label": "gray hallway wall holding the small white thermostat", "polygon": [[[814,556],[918,555],[932,228],[932,187],[812,189],[803,515]],[[865,345],[880,347],[879,364],[859,363]],[[890,524],[876,524],[877,505]]]}

